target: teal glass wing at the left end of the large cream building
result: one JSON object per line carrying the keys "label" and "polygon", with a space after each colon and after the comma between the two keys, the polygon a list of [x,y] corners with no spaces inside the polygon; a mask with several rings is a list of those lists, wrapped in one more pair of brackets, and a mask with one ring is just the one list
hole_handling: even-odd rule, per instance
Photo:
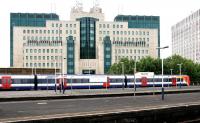
{"label": "teal glass wing at the left end of the large cream building", "polygon": [[10,13],[10,66],[13,67],[13,27],[45,27],[46,20],[59,20],[59,16],[50,13]]}

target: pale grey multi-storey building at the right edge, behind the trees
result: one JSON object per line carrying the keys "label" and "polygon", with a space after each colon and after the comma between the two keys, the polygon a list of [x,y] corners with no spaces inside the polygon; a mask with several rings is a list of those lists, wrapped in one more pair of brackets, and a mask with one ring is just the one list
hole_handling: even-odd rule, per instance
{"label": "pale grey multi-storey building at the right edge, behind the trees", "polygon": [[200,63],[200,10],[171,28],[172,54]]}

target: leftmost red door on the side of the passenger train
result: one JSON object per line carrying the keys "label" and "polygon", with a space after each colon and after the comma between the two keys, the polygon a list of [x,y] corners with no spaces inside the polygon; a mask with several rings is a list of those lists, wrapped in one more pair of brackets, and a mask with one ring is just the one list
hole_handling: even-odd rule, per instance
{"label": "leftmost red door on the side of the passenger train", "polygon": [[12,84],[11,76],[2,76],[1,81],[3,89],[11,89],[11,84]]}

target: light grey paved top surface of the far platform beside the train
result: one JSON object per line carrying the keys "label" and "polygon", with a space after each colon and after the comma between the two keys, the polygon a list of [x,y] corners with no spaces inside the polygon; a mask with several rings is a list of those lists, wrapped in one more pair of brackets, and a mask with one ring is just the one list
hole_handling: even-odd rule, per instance
{"label": "light grey paved top surface of the far platform beside the train", "polygon": [[[183,86],[179,87],[165,87],[165,91],[183,91],[183,90],[200,90],[200,86]],[[0,91],[0,100],[2,98],[22,98],[22,97],[56,97],[56,96],[80,96],[80,95],[109,95],[109,94],[133,94],[143,92],[160,92],[160,87],[137,88],[108,88],[108,89],[72,89],[66,90],[62,94],[57,90],[38,90],[38,91]]]}

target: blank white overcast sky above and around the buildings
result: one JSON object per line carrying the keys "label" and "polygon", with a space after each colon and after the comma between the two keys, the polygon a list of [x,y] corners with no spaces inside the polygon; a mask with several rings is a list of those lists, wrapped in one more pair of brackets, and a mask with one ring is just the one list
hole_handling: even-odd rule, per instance
{"label": "blank white overcast sky above and around the buildings", "polygon": [[[79,0],[85,11],[95,0]],[[171,26],[200,9],[199,0],[98,0],[106,21],[118,14],[160,16],[161,46],[170,48],[161,52],[171,55]],[[5,0],[0,4],[0,67],[10,65],[10,13],[57,13],[61,20],[69,20],[70,9],[76,0]]]}

